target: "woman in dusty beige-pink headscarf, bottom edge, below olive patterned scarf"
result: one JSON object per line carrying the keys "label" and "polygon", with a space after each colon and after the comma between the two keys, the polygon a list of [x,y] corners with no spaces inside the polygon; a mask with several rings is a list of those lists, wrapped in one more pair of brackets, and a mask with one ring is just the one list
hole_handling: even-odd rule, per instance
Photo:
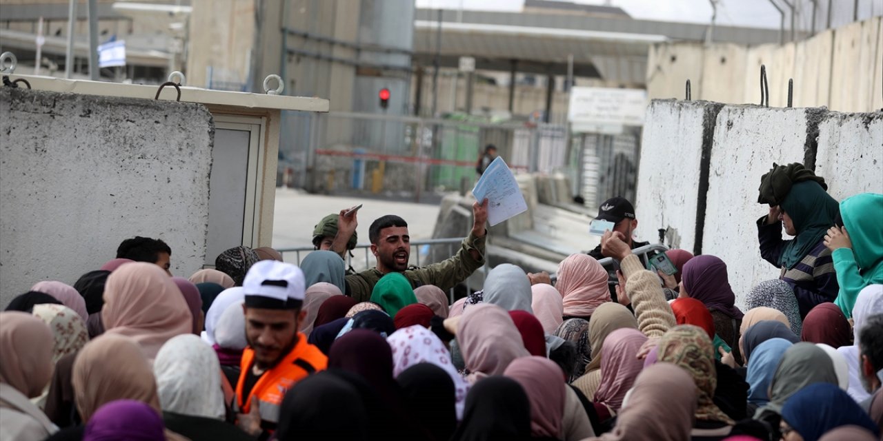
{"label": "woman in dusty beige-pink headscarf, bottom edge, below olive patterned scarf", "polygon": [[696,407],[696,385],[687,370],[656,363],[638,375],[613,430],[587,441],[690,439]]}

